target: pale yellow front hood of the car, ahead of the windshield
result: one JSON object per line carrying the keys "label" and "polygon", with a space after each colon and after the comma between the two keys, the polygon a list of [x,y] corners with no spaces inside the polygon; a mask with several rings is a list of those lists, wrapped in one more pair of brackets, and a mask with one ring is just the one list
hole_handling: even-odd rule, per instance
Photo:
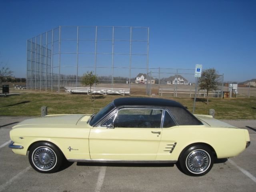
{"label": "pale yellow front hood of the car, ahead of the windshield", "polygon": [[76,125],[77,122],[82,119],[83,121],[88,120],[90,116],[85,114],[74,114],[74,115],[49,115],[41,118],[32,118],[24,120],[12,128],[21,128],[27,126],[36,125]]}

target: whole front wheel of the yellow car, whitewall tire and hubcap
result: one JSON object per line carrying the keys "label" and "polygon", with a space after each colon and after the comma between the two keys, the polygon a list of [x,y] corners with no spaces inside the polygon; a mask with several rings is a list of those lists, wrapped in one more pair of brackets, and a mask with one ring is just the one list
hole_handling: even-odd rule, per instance
{"label": "whole front wheel of the yellow car, whitewall tire and hubcap", "polygon": [[28,154],[30,165],[40,173],[54,173],[62,164],[62,153],[51,143],[38,142]]}

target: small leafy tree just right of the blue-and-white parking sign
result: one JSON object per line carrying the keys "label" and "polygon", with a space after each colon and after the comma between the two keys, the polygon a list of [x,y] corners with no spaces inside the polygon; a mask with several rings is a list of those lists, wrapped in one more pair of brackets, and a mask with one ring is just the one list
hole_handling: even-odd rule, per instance
{"label": "small leafy tree just right of the blue-and-white parking sign", "polygon": [[207,104],[208,104],[208,92],[210,90],[216,90],[219,75],[214,68],[204,70],[201,77],[199,78],[200,89],[207,90]]}

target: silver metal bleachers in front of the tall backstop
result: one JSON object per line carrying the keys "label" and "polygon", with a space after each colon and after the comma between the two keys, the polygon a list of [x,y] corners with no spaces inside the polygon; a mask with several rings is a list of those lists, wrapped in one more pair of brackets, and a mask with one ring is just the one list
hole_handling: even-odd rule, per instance
{"label": "silver metal bleachers in front of the tall backstop", "polygon": [[130,89],[125,88],[92,88],[92,92],[90,92],[90,87],[65,87],[65,89],[65,92],[69,94],[130,95]]}

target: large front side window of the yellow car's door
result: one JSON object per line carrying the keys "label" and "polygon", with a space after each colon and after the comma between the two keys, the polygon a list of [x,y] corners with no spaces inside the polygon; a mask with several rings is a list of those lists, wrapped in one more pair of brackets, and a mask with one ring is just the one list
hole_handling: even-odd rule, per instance
{"label": "large front side window of the yellow car's door", "polygon": [[114,119],[114,127],[122,128],[160,128],[162,109],[123,108]]}

